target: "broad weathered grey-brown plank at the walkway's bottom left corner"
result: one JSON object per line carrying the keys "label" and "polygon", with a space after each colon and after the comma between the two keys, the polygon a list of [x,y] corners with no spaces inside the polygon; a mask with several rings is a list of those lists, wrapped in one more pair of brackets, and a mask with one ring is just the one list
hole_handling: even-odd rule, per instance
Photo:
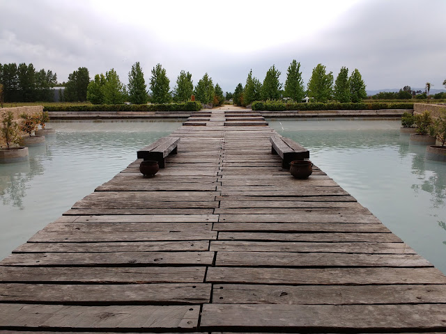
{"label": "broad weathered grey-brown plank at the walkway's bottom left corner", "polygon": [[121,331],[197,328],[199,305],[29,305],[0,304],[0,328]]}

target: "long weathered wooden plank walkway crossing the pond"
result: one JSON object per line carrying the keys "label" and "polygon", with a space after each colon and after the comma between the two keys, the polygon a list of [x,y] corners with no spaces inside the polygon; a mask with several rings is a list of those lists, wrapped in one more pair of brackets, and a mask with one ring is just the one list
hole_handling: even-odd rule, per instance
{"label": "long weathered wooden plank walkway crossing the pond", "polygon": [[258,115],[187,122],[0,262],[0,333],[446,331],[445,276]]}

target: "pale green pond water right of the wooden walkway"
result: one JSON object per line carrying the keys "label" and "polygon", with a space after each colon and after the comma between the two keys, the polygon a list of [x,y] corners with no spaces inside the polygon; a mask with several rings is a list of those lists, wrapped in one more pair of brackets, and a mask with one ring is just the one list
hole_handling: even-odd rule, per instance
{"label": "pale green pond water right of the wooden walkway", "polygon": [[[390,120],[270,120],[409,246],[446,273],[446,164]],[[440,227],[440,230],[439,230]]]}

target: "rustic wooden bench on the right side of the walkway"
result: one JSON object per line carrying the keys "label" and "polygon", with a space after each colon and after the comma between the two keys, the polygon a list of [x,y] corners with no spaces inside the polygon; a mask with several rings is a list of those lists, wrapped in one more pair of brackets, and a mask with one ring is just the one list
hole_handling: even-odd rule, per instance
{"label": "rustic wooden bench on the right side of the walkway", "polygon": [[309,159],[309,150],[303,148],[295,141],[279,135],[270,136],[271,153],[279,154],[282,158],[282,168],[290,169],[293,160]]}

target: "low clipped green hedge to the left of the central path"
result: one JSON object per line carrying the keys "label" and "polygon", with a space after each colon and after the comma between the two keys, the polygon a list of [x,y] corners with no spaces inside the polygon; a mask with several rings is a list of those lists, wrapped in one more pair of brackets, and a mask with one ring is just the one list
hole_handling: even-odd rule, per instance
{"label": "low clipped green hedge to the left of the central path", "polygon": [[91,104],[86,106],[44,106],[43,111],[199,111],[199,101],[166,104]]}

